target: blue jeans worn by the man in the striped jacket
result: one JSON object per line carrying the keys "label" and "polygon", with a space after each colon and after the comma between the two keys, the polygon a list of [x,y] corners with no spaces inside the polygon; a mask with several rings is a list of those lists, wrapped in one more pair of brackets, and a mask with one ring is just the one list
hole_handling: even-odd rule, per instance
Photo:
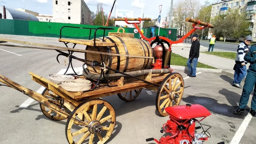
{"label": "blue jeans worn by the man in the striped jacket", "polygon": [[237,84],[241,85],[242,79],[244,79],[244,77],[247,74],[246,65],[241,65],[241,64],[236,64],[236,65],[237,65],[237,69],[234,73],[233,84],[237,83]]}

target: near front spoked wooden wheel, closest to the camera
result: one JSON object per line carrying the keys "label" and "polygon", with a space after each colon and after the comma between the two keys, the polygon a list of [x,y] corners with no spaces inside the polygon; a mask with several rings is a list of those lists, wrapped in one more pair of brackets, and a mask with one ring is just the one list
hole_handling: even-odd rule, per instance
{"label": "near front spoked wooden wheel, closest to the camera", "polygon": [[[93,108],[90,110],[90,108]],[[110,103],[90,99],[77,106],[68,118],[65,133],[69,144],[104,144],[116,124],[116,113]]]}

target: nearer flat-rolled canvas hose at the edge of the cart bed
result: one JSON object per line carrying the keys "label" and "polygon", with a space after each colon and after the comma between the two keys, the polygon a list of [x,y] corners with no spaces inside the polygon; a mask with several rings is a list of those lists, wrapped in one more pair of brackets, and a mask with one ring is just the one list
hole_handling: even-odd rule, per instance
{"label": "nearer flat-rolled canvas hose at the edge of the cart bed", "polygon": [[71,92],[86,91],[91,89],[91,82],[85,79],[66,80],[61,82],[61,87]]}

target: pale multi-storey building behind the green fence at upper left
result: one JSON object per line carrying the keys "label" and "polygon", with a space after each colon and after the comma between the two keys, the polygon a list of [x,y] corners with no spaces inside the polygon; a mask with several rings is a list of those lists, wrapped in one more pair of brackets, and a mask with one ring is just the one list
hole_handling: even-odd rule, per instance
{"label": "pale multi-storey building behind the green fence at upper left", "polygon": [[54,22],[91,24],[90,14],[83,0],[53,0]]}

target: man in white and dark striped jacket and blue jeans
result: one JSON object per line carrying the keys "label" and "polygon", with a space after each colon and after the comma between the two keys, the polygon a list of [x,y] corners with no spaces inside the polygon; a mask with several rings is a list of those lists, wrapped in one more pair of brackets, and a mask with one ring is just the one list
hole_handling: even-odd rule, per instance
{"label": "man in white and dark striped jacket and blue jeans", "polygon": [[247,61],[244,60],[244,56],[246,52],[249,51],[248,45],[252,42],[252,37],[247,36],[245,41],[241,42],[237,48],[237,56],[236,56],[236,71],[234,73],[233,86],[242,88],[241,81],[246,76],[246,64]]}

